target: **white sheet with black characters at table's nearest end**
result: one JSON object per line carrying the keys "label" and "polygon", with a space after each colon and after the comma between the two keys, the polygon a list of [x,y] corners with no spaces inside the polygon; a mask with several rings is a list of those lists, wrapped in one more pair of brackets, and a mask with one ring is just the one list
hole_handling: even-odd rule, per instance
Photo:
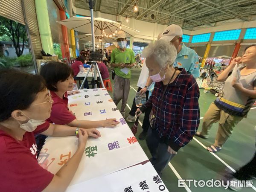
{"label": "white sheet with black characters at table's nearest end", "polygon": [[[100,183],[100,185],[99,185]],[[70,185],[67,192],[168,192],[150,162]]]}

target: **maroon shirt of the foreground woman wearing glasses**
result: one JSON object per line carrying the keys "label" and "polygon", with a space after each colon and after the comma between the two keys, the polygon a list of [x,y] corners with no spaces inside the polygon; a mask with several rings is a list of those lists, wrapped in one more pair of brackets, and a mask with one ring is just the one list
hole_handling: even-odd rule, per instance
{"label": "maroon shirt of the foreground woman wearing glasses", "polygon": [[54,175],[38,164],[34,137],[48,128],[45,122],[34,132],[26,132],[22,141],[0,130],[1,192],[41,192],[52,181]]}

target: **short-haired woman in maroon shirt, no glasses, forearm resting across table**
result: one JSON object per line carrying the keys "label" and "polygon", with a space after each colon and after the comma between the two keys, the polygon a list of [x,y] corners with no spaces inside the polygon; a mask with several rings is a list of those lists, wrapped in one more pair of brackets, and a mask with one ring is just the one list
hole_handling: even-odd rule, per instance
{"label": "short-haired woman in maroon shirt, no glasses, forearm resting across table", "polygon": [[67,64],[55,61],[41,67],[41,76],[46,80],[47,88],[52,94],[52,112],[49,122],[81,128],[115,127],[116,119],[99,121],[78,120],[68,109],[67,91],[73,90],[73,70]]}

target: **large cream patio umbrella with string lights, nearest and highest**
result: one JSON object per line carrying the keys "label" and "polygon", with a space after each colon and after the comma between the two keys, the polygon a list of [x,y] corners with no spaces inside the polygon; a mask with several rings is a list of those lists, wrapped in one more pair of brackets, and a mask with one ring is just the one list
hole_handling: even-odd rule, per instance
{"label": "large cream patio umbrella with string lights, nearest and highest", "polygon": [[[114,37],[117,31],[122,30],[125,32],[127,37],[134,37],[134,35],[139,32],[128,26],[122,25],[121,23],[109,19],[104,19],[102,17],[94,17],[93,20],[94,35],[111,35]],[[91,17],[70,17],[66,20],[57,21],[57,23],[60,23],[69,29],[74,29],[79,32],[86,34],[91,33]]]}

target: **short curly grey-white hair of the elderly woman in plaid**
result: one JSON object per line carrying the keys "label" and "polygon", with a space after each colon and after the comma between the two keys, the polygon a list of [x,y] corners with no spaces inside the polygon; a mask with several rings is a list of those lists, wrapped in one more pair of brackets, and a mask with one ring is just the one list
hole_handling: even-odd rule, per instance
{"label": "short curly grey-white hair of the elderly woman in plaid", "polygon": [[177,49],[169,41],[160,39],[150,43],[142,54],[145,58],[154,57],[160,67],[165,67],[167,64],[172,66],[177,57]]}

